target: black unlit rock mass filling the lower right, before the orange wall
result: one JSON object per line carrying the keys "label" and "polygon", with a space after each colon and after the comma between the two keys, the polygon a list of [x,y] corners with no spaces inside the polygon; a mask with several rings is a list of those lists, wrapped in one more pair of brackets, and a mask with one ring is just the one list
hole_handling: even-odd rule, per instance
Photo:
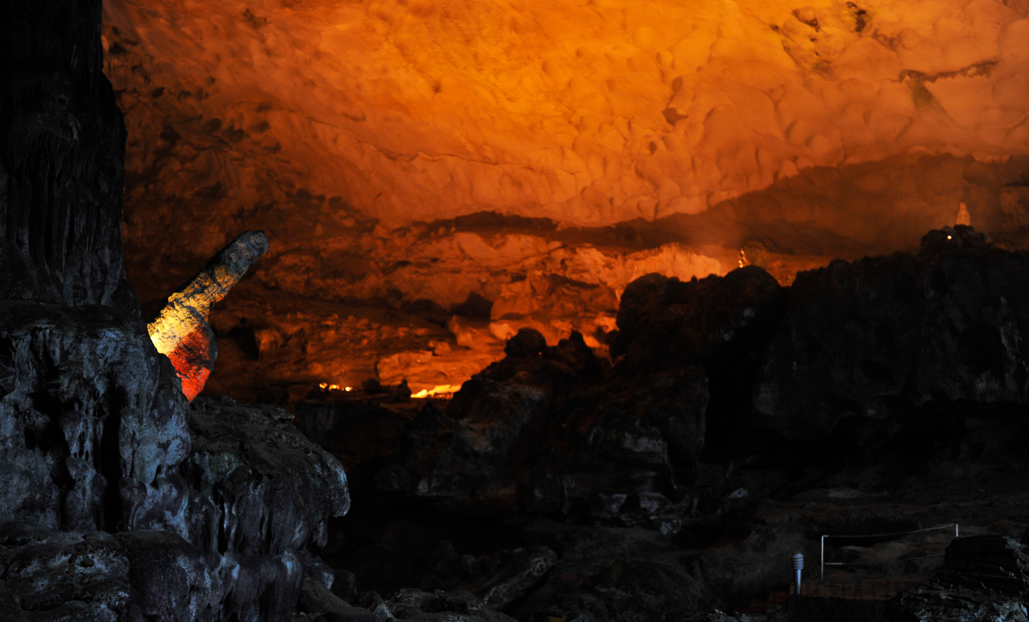
{"label": "black unlit rock mass filling the lower right, before the orange wall", "polygon": [[[449,404],[416,415],[417,400],[401,410],[353,395],[332,406],[345,417],[313,409],[320,441],[361,479],[361,516],[340,523],[349,544],[333,562],[384,594],[356,600],[381,617],[459,614],[466,593],[523,622],[698,620],[716,608],[726,613],[712,619],[742,620],[734,607],[773,595],[778,610],[755,619],[880,620],[885,601],[872,598],[884,593],[866,588],[855,605],[833,582],[924,581],[945,540],[904,535],[916,529],[1025,528],[1000,520],[1022,512],[1015,501],[968,504],[1025,481],[1025,263],[959,227],[928,235],[918,256],[833,263],[789,289],[759,268],[651,275],[627,289],[610,364],[576,334],[547,346],[523,329]],[[388,434],[362,448],[377,420]],[[755,424],[767,437],[747,431]],[[857,570],[819,585],[832,597],[787,603],[790,556],[817,572],[822,534],[856,539],[826,554]],[[987,577],[1010,563],[987,557],[906,592],[890,619],[1023,619],[1018,582]]]}

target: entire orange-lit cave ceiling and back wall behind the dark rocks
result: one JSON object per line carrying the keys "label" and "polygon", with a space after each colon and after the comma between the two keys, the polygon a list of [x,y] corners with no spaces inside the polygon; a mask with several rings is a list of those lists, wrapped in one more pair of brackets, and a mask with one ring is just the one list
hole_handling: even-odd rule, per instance
{"label": "entire orange-lit cave ceiling and back wall behind the dark rocks", "polygon": [[[271,352],[306,327],[294,363],[331,381],[533,318],[609,329],[633,277],[747,243],[788,281],[962,203],[1010,229],[1029,173],[1029,0],[107,0],[105,42],[144,299],[263,228],[223,330]],[[317,304],[271,326],[269,292]],[[469,293],[492,309],[446,320]],[[370,300],[435,321],[317,310]]]}

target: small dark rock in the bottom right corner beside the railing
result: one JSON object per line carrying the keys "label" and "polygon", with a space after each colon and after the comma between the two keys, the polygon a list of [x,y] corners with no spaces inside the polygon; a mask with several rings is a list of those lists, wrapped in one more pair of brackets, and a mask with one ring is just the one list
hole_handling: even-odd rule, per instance
{"label": "small dark rock in the bottom right corner beside the railing", "polygon": [[1003,536],[955,539],[930,581],[887,606],[890,622],[1029,620],[1029,547]]}

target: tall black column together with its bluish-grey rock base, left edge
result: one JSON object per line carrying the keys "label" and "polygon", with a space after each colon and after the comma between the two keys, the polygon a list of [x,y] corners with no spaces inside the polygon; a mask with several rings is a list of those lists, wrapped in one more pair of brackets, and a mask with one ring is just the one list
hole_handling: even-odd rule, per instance
{"label": "tall black column together with its bluish-grey rock base, left edge", "polygon": [[[190,408],[138,317],[100,9],[0,7],[0,616],[361,619],[311,595],[333,576],[309,547],[350,505],[340,463],[276,407]],[[193,307],[267,248],[243,243]]]}

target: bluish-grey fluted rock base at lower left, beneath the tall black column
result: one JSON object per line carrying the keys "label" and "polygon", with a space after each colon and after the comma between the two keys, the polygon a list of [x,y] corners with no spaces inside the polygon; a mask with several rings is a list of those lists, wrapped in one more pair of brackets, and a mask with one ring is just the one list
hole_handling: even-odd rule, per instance
{"label": "bluish-grey fluted rock base at lower left, beneath the tall black column", "polygon": [[[14,313],[25,305],[36,322]],[[109,309],[8,306],[26,336],[6,335],[20,373],[0,402],[5,619],[275,620],[306,580],[330,587],[308,547],[349,508],[347,480],[287,413],[188,409],[143,325]],[[79,491],[83,481],[94,485]],[[345,610],[334,606],[325,612]]]}

